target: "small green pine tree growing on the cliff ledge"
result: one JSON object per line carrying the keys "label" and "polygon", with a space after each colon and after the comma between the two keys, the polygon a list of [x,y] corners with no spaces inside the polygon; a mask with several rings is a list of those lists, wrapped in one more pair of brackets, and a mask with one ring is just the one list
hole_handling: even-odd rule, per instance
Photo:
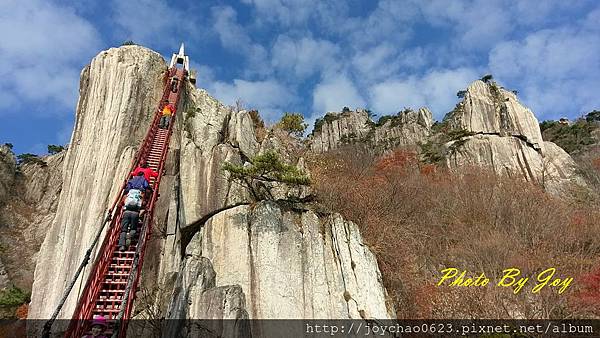
{"label": "small green pine tree growing on the cliff ledge", "polygon": [[273,183],[289,186],[310,184],[308,176],[296,166],[285,164],[274,151],[267,151],[250,160],[249,165],[225,162],[222,168],[229,173],[229,179],[241,183],[257,200],[274,199]]}

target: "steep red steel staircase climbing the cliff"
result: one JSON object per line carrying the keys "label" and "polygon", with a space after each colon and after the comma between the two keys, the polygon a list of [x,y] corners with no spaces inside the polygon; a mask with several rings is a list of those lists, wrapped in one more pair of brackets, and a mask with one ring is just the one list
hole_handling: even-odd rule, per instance
{"label": "steep red steel staircase climbing the cliff", "polygon": [[[177,64],[182,64],[183,67],[179,68]],[[137,240],[133,238],[125,251],[119,250],[118,241],[124,211],[123,196],[127,183],[126,179],[111,209],[109,209],[109,215],[111,215],[110,227],[106,232],[85,288],[79,297],[65,337],[80,338],[89,333],[90,322],[96,315],[104,316],[107,319],[109,327],[104,333],[106,336],[125,337],[142,270],[146,243],[151,233],[154,207],[159,196],[158,190],[175,123],[174,117],[178,110],[184,80],[188,76],[188,67],[189,60],[184,54],[182,44],[179,54],[173,54],[170,68],[165,75],[161,102],[132,163],[131,170],[142,163],[147,163],[150,168],[159,173],[158,177],[151,178],[149,182],[153,191],[151,196],[146,195],[145,197],[145,211],[140,215],[142,225],[141,227],[138,226],[136,233],[138,238]],[[176,77],[177,81],[171,81],[173,77]],[[171,115],[169,127],[160,129],[159,123],[165,100],[169,100],[175,110]]]}

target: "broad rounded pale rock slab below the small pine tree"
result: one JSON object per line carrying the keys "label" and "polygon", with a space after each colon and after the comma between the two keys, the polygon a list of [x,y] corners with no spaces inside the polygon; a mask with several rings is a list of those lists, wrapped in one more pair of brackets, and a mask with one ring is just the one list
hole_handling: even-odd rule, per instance
{"label": "broad rounded pale rock slab below the small pine tree", "polygon": [[250,318],[394,316],[374,255],[339,215],[238,206],[209,219],[196,242],[217,286],[242,287]]}

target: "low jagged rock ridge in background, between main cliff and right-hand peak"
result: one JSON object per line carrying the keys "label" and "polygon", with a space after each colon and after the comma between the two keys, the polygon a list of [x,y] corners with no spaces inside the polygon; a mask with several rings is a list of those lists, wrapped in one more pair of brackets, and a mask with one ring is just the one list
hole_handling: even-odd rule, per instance
{"label": "low jagged rock ridge in background, between main cliff and right-hand peak", "polygon": [[406,110],[375,124],[367,111],[327,113],[310,137],[310,150],[324,153],[343,144],[365,143],[384,152],[400,146],[415,146],[431,133],[433,118],[427,108]]}

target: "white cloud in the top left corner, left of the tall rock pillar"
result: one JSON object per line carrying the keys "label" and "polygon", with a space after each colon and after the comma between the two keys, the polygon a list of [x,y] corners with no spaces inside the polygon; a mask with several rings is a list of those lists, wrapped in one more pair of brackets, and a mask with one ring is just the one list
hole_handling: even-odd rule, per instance
{"label": "white cloud in the top left corner, left of the tall rock pillar", "polygon": [[73,110],[81,60],[100,44],[96,29],[72,8],[5,0],[0,3],[0,31],[0,107],[18,101]]}

